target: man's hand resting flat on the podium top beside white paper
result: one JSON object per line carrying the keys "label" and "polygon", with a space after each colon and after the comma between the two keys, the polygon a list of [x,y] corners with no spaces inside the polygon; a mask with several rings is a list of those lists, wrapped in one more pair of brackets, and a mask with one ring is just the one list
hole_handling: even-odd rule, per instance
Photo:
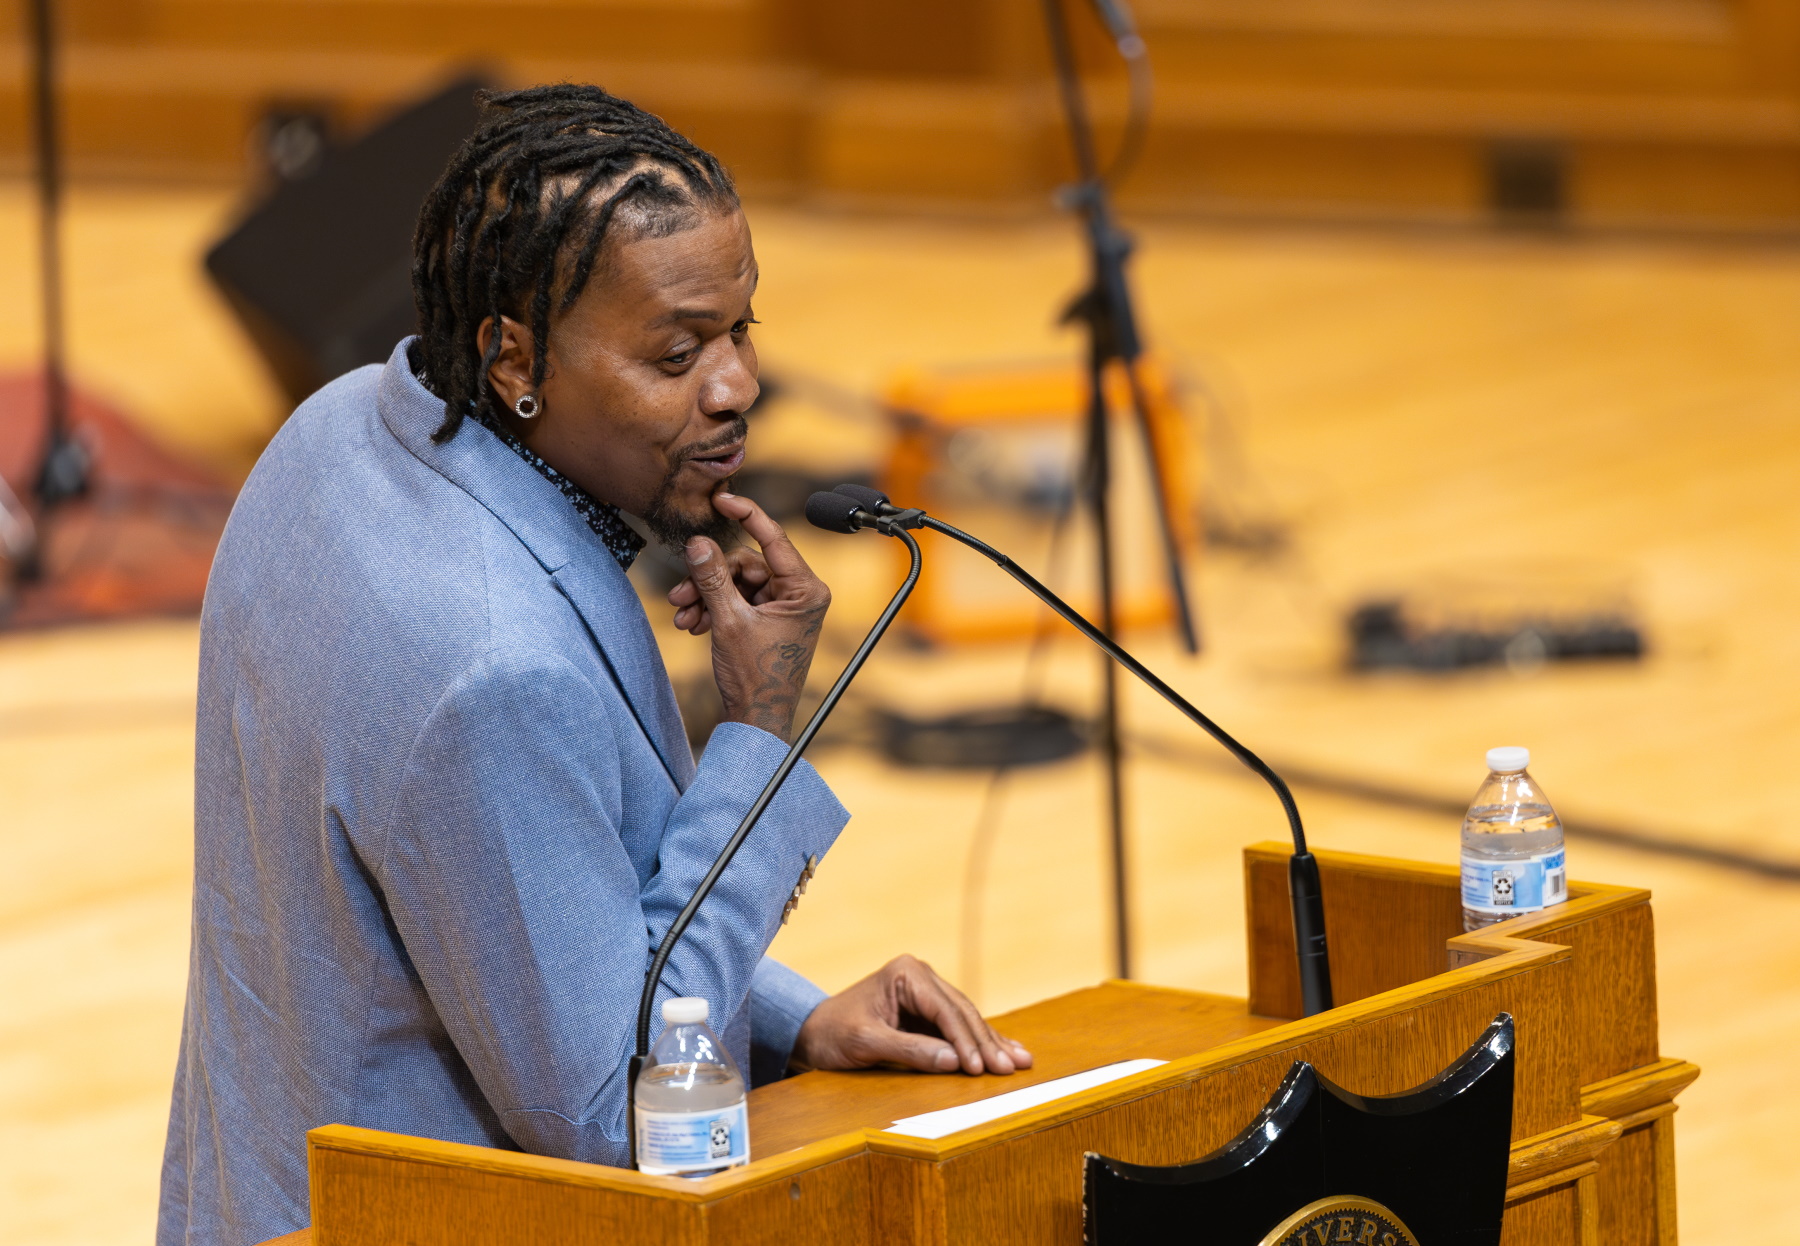
{"label": "man's hand resting flat on the podium top beside white paper", "polygon": [[1031,1053],[995,1034],[931,965],[895,956],[812,1010],[794,1041],[794,1062],[821,1070],[902,1064],[922,1073],[1012,1073],[1031,1068]]}

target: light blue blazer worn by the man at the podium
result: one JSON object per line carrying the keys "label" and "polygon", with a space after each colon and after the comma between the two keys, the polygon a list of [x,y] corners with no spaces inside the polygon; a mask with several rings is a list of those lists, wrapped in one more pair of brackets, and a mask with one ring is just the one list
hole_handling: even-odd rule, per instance
{"label": "light blue blazer worn by the man at the podium", "polygon": [[[441,420],[401,342],[288,420],[220,542],[158,1246],[306,1224],[331,1122],[626,1163],[650,951],[785,753],[724,724],[695,765],[612,555]],[[823,998],[763,953],[846,821],[801,763],[662,978],[747,1071]]]}

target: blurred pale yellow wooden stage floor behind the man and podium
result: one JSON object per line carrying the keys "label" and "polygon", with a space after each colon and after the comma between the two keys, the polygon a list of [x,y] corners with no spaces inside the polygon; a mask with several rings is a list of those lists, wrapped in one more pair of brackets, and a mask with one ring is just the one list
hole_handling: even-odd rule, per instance
{"label": "blurred pale yellow wooden stage floor behind the man and podium", "polygon": [[[76,376],[241,475],[279,416],[207,293],[198,250],[230,203],[81,191],[70,225]],[[0,292],[31,306],[31,216],[0,189]],[[869,393],[905,364],[1073,349],[1049,328],[1080,277],[1067,223],[850,220],[752,209],[765,367]],[[1215,484],[1283,522],[1285,553],[1213,553],[1202,659],[1143,652],[1278,765],[1420,796],[1301,785],[1319,844],[1451,861],[1490,744],[1528,744],[1571,826],[1577,877],[1652,888],[1669,1055],[1683,1098],[1683,1235],[1773,1237],[1800,1179],[1800,882],[1598,843],[1624,826],[1800,862],[1800,250],[1152,223],[1138,272],[1157,342],[1229,398],[1247,472]],[[23,321],[23,317],[22,317]],[[0,369],[29,362],[20,324]],[[796,402],[758,434],[868,461],[868,423]],[[756,441],[752,441],[752,454]],[[868,544],[803,535],[850,639],[886,592]],[[1449,573],[1579,567],[1638,603],[1631,666],[1350,677],[1364,592]],[[704,648],[668,637],[671,668]],[[0,1241],[140,1242],[187,953],[191,621],[0,637]],[[826,666],[830,659],[821,661]],[[1022,646],[918,652],[866,704],[1010,700]],[[1051,646],[1049,695],[1093,704],[1089,654]],[[1273,799],[1130,697],[1138,976],[1242,994],[1238,850]],[[778,954],[841,987],[898,951],[1008,1008],[1107,974],[1100,774],[1015,774],[965,963],[961,875],[986,776],[819,767],[855,821]]]}

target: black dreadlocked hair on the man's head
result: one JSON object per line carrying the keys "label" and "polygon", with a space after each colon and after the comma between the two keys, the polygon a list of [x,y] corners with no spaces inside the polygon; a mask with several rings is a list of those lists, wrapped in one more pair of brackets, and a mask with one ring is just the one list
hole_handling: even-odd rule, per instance
{"label": "black dreadlocked hair on the man's head", "polygon": [[[445,400],[437,441],[454,438],[464,416],[497,423],[488,369],[502,315],[531,326],[531,385],[544,384],[551,313],[581,297],[616,220],[630,238],[662,238],[702,211],[738,205],[716,158],[598,86],[481,92],[477,101],[481,124],[437,178],[412,238],[421,364]],[[482,351],[477,330],[488,317],[495,331]]]}

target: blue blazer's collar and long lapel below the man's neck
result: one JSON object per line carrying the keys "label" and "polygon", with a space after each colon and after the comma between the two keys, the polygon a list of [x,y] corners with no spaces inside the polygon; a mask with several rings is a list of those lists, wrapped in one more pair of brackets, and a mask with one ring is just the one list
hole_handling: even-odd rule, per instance
{"label": "blue blazer's collar and long lapel below the man's neck", "polygon": [[448,443],[432,441],[445,405],[412,375],[410,344],[407,339],[396,346],[382,369],[376,389],[382,421],[414,457],[486,506],[549,573],[587,625],[670,780],[686,790],[695,772],[693,751],[662,652],[625,569],[569,499],[481,425],[468,421]]}

